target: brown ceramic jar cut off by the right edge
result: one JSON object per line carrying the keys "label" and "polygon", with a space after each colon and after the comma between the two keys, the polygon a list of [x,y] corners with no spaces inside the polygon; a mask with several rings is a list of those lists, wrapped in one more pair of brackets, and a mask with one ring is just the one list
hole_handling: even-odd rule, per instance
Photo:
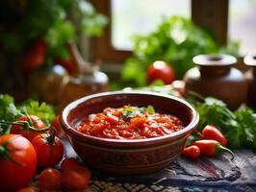
{"label": "brown ceramic jar cut off by the right edge", "polygon": [[246,104],[250,108],[256,108],[256,55],[246,56],[243,62],[250,67],[250,69],[244,74],[248,83]]}

